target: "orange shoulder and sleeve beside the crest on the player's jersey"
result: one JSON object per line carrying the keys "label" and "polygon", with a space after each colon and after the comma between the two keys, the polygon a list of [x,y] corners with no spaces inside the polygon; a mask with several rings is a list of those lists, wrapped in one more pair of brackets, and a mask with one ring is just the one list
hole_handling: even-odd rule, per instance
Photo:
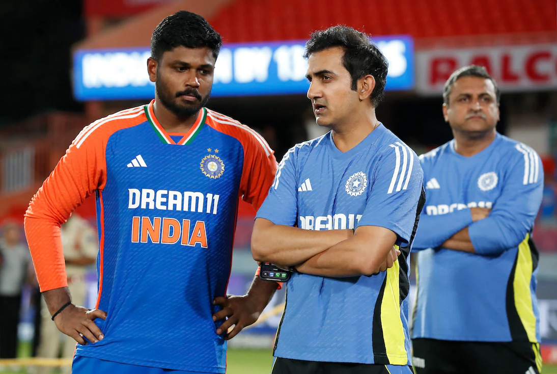
{"label": "orange shoulder and sleeve beside the crest on the player's jersey", "polygon": [[257,211],[275,179],[277,161],[273,150],[255,130],[226,115],[208,109],[206,123],[242,143],[244,164],[238,193]]}

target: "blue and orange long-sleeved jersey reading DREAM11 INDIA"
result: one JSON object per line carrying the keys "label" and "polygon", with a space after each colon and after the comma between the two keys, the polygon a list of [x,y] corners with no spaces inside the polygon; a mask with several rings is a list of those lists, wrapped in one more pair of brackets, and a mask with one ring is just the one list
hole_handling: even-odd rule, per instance
{"label": "blue and orange long-sleeved jersey reading DREAM11 INDIA", "polygon": [[67,285],[60,225],[95,193],[100,251],[95,322],[76,355],[224,373],[212,300],[226,294],[238,197],[259,208],[276,171],[253,129],[202,108],[168,134],[152,101],[85,127],[33,197],[25,230],[41,291]]}

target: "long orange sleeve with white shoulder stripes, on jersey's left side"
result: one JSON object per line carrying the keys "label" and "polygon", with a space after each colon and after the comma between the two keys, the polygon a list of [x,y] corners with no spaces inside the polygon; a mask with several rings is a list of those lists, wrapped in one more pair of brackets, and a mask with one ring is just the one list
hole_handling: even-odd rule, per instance
{"label": "long orange sleeve with white shoulder stripes, on jersey's left side", "polygon": [[85,198],[104,188],[110,135],[145,120],[140,106],[85,127],[31,199],[24,226],[41,292],[67,286],[60,226]]}

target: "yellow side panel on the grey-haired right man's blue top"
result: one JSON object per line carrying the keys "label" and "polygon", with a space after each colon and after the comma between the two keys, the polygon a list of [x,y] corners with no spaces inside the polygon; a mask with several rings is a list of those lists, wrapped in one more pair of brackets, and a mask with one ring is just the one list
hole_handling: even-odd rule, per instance
{"label": "yellow side panel on the grey-haired right man's blue top", "polygon": [[515,292],[515,307],[519,314],[522,326],[526,330],[528,340],[537,343],[536,339],[536,316],[532,307],[532,294],[530,282],[532,280],[532,255],[528,244],[530,234],[519,245],[518,259],[516,261],[515,279],[513,288]]}

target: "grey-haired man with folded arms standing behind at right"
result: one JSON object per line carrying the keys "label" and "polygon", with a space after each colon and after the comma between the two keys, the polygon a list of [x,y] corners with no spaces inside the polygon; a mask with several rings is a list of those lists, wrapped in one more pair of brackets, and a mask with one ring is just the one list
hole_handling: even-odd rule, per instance
{"label": "grey-haired man with folded arms standing behind at right", "polygon": [[543,190],[538,154],[496,132],[499,89],[483,67],[449,77],[454,139],[420,157],[426,207],[414,250],[416,372],[541,371],[532,226]]}

